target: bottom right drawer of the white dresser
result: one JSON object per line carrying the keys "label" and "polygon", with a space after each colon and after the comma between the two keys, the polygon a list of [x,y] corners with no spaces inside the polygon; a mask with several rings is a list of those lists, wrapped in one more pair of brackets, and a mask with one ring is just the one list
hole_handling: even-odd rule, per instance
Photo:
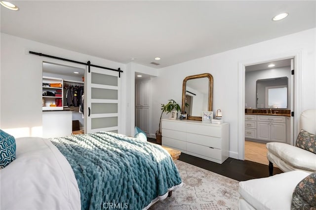
{"label": "bottom right drawer of the white dresser", "polygon": [[187,142],[187,151],[193,152],[199,155],[203,155],[205,157],[214,158],[217,160],[221,160],[222,158],[222,150],[216,148],[210,148],[208,146],[202,146],[194,143]]}

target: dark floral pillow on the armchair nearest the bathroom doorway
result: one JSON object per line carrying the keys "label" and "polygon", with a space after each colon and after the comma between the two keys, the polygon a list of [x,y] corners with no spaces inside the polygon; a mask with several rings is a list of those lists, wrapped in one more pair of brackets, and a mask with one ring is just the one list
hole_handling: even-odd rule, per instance
{"label": "dark floral pillow on the armchair nearest the bathroom doorway", "polygon": [[296,139],[296,146],[316,154],[316,135],[301,130]]}

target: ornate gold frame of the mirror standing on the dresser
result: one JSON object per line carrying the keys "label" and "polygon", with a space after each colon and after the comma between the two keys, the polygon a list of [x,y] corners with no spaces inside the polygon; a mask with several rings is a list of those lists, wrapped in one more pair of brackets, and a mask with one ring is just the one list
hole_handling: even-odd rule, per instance
{"label": "ornate gold frame of the mirror standing on the dresser", "polygon": [[[182,108],[181,110],[185,110],[185,104],[186,104],[186,87],[187,87],[187,81],[190,79],[197,79],[197,78],[203,78],[207,77],[208,78],[208,110],[207,111],[212,111],[213,109],[213,76],[210,73],[201,73],[197,75],[192,75],[192,76],[187,76],[183,80],[183,85],[182,85]],[[205,110],[201,110],[205,111]],[[188,116],[188,120],[202,120],[202,117],[199,116]]]}

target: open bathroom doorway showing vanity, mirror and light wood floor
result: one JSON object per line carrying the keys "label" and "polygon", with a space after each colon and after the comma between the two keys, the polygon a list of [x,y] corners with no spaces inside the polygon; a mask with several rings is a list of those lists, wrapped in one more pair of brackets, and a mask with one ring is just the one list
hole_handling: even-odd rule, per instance
{"label": "open bathroom doorway showing vanity, mirror and light wood floor", "polygon": [[[273,138],[275,134],[280,141],[293,144],[294,123],[290,117],[291,110],[294,110],[293,68],[294,58],[245,66],[243,144],[245,160],[268,165],[266,143],[276,141]],[[273,92],[283,94],[275,97]],[[268,111],[271,113],[270,118],[278,117],[284,122],[277,125],[261,122],[262,116],[270,116],[267,115]]]}

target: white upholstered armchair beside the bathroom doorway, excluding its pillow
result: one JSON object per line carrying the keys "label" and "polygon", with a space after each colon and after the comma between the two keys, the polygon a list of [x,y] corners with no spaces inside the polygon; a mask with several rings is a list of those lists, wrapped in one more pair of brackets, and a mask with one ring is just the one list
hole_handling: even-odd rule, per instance
{"label": "white upholstered armchair beside the bathroom doorway, excluding its pillow", "polygon": [[[300,128],[316,135],[316,109],[302,112]],[[316,154],[286,143],[267,143],[267,158],[269,160],[269,175],[273,175],[273,164],[283,172],[294,170],[312,173],[316,171]]]}

